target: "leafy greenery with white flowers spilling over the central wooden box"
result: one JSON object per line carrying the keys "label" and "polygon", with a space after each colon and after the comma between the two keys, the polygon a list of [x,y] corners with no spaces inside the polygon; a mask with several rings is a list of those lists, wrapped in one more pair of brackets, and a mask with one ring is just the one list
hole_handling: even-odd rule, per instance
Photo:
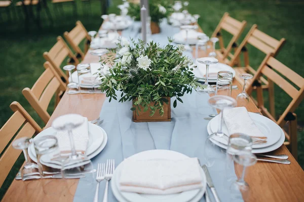
{"label": "leafy greenery with white flowers spilling over the central wooden box", "polygon": [[131,110],[137,116],[146,112],[150,117],[156,112],[163,116],[171,97],[176,97],[175,108],[177,100],[182,103],[184,93],[191,93],[193,87],[202,88],[192,72],[197,66],[192,66],[192,59],[183,56],[183,51],[185,47],[181,44],[161,47],[153,41],[146,45],[141,40],[131,39],[130,44],[119,42],[118,48],[111,49],[101,61],[111,68],[109,74],[100,75],[100,88],[110,97],[109,102],[117,100],[117,91],[121,91],[119,102],[133,100]]}

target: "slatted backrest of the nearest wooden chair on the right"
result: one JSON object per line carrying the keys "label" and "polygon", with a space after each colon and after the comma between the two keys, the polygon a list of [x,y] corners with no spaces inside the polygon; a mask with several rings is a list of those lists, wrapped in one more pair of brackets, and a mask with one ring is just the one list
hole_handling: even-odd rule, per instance
{"label": "slatted backrest of the nearest wooden chair on the right", "polygon": [[[295,73],[294,71],[292,71],[290,68],[288,68],[281,62],[279,62],[277,59],[273,57],[273,55],[274,54],[268,54],[265,57],[260,67],[256,71],[253,80],[258,80],[261,76],[265,76],[269,80],[276,83],[282,90],[284,90],[292,98],[291,103],[288,105],[286,110],[280,116],[278,121],[276,121],[275,117],[273,117],[267,110],[265,110],[263,103],[258,103],[258,106],[264,111],[264,114],[267,117],[269,117],[273,121],[276,121],[279,126],[283,127],[286,123],[284,119],[286,118],[288,113],[293,113],[304,98],[304,78],[298,75],[297,73]],[[296,89],[294,85],[288,82],[281,75],[284,75],[284,77],[290,80],[295,86],[297,86],[299,90]],[[252,89],[253,87],[250,86],[247,89],[247,92],[251,93]],[[262,93],[262,91],[260,91],[260,93]],[[262,96],[262,94],[259,96]]]}

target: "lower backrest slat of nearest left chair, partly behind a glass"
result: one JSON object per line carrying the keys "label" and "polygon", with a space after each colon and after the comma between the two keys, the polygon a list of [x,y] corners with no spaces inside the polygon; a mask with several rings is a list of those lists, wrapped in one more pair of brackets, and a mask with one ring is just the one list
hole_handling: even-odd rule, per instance
{"label": "lower backrest slat of nearest left chair, partly behind a glass", "polygon": [[[35,129],[27,122],[24,124],[24,126],[21,128],[21,130],[18,132],[16,137],[13,139],[19,139],[21,137],[32,137],[35,134]],[[0,186],[2,186],[3,182],[5,181],[6,177],[8,176],[11,168],[15,164],[16,160],[18,159],[20,153],[22,150],[13,148],[12,144],[8,146],[5,153],[0,158]]]}

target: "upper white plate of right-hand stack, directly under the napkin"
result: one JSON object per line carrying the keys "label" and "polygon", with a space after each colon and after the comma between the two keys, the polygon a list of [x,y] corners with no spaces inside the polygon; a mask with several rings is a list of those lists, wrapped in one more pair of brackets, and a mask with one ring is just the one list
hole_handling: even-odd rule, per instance
{"label": "upper white plate of right-hand stack, directly under the napkin", "polygon": [[[267,142],[263,144],[253,144],[252,148],[262,148],[267,147],[275,144],[277,141],[279,141],[281,137],[281,128],[272,120],[270,120],[267,117],[264,117],[260,114],[249,112],[250,118],[255,123],[256,127],[260,129],[260,131],[267,137]],[[216,132],[218,128],[218,122],[219,122],[219,116],[217,115],[210,121],[210,129],[212,132]],[[229,134],[228,128],[223,121],[222,123],[222,130],[223,133]],[[228,144],[223,138],[217,138],[215,139],[223,144]]]}

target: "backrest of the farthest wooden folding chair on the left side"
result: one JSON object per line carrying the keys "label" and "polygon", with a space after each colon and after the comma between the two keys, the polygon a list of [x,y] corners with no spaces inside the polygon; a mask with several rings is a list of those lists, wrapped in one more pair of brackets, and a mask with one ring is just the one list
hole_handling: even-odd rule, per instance
{"label": "backrest of the farthest wooden folding chair on the left side", "polygon": [[[67,40],[67,42],[71,45],[71,47],[74,49],[74,51],[77,53],[77,58],[84,59],[85,54],[88,50],[88,41],[91,40],[91,36],[88,34],[86,28],[84,25],[80,22],[76,22],[76,26],[70,31],[70,32],[64,32],[64,38]],[[79,47],[80,42],[82,42],[84,39],[87,39],[85,41],[85,48],[84,52]],[[78,57],[80,56],[80,57]]]}

